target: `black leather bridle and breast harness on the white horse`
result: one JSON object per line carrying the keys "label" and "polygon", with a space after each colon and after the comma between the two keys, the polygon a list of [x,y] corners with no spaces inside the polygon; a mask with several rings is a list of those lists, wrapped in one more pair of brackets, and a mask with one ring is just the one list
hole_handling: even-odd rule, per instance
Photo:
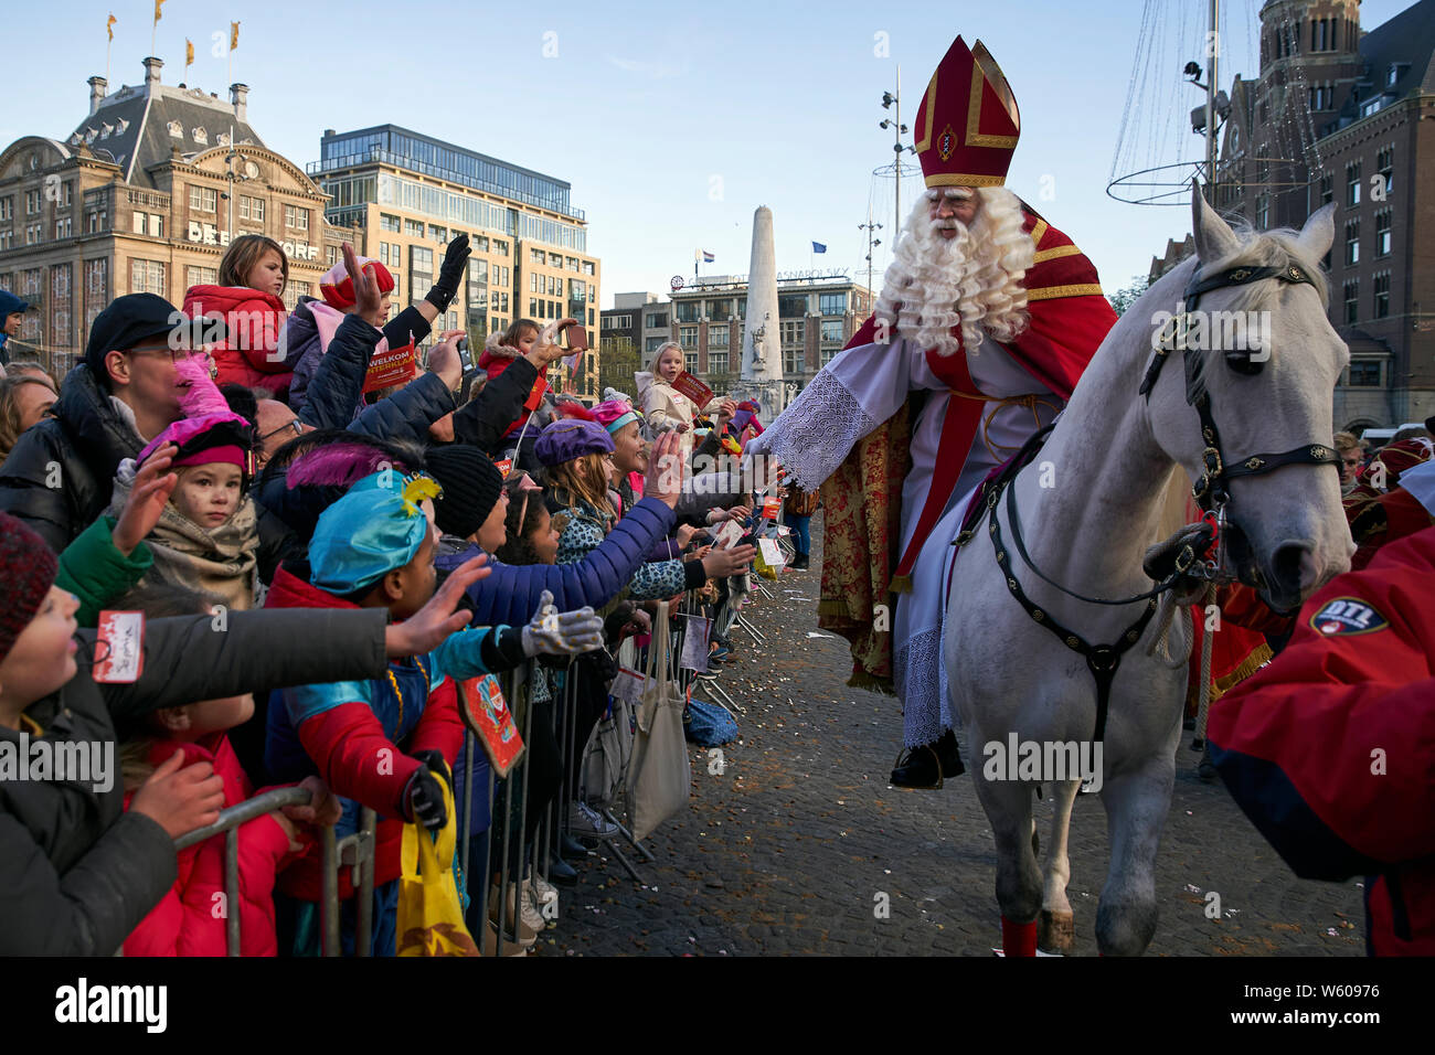
{"label": "black leather bridle and breast harness on the white horse", "polygon": [[[1190,313],[1195,311],[1203,293],[1224,289],[1227,286],[1246,286],[1264,278],[1277,278],[1279,281],[1287,284],[1306,283],[1312,287],[1316,286],[1310,274],[1294,261],[1289,261],[1284,267],[1233,267],[1208,278],[1200,278],[1200,271],[1197,271],[1185,287],[1185,311],[1172,320],[1174,327],[1168,330],[1165,336],[1175,336],[1181,332],[1180,327],[1190,324]],[[1147,367],[1147,375],[1141,382],[1139,395],[1144,395],[1148,400],[1151,399],[1151,388],[1155,385],[1157,378],[1161,373],[1161,366],[1165,363],[1167,356],[1175,349],[1175,340],[1162,340],[1161,346],[1155,352],[1155,357]],[[1333,465],[1339,471],[1340,461],[1336,456],[1335,449],[1326,446],[1325,444],[1307,444],[1306,446],[1299,446],[1283,454],[1251,455],[1236,465],[1228,465],[1227,459],[1221,454],[1221,439],[1220,432],[1215,428],[1215,419],[1211,416],[1211,395],[1205,388],[1203,375],[1203,350],[1204,349],[1200,347],[1185,347],[1185,399],[1187,403],[1194,406],[1197,413],[1201,416],[1201,438],[1205,442],[1205,449],[1201,452],[1201,478],[1191,488],[1191,494],[1195,497],[1195,501],[1200,502],[1203,510],[1220,514],[1220,510],[1230,501],[1227,482],[1236,477],[1254,477],[1263,472],[1271,472],[1283,465]],[[1227,362],[1240,373],[1260,373],[1261,369],[1261,362],[1253,360],[1248,352],[1244,353],[1244,357],[1238,352],[1227,352]],[[1185,550],[1191,550],[1191,547],[1187,545],[1177,558],[1177,571],[1172,576],[1147,593],[1137,594],[1135,597],[1122,597],[1119,600],[1086,597],[1083,594],[1073,593],[1049,578],[1040,568],[1036,567],[1030,555],[1026,553],[1026,544],[1022,540],[1020,518],[1016,511],[1016,491],[1013,482],[1017,472],[1027,462],[1030,462],[1036,455],[1036,451],[1040,449],[1046,439],[1046,433],[1050,432],[1052,428],[1052,425],[1048,425],[1035,433],[1022,451],[1007,464],[1003,472],[990,482],[986,495],[989,514],[987,533],[992,535],[992,547],[996,553],[996,563],[1002,568],[1002,577],[1006,580],[1006,589],[1012,593],[1012,597],[1016,599],[1016,603],[1020,604],[1026,614],[1036,623],[1055,633],[1068,649],[1079,653],[1086,660],[1086,667],[1091,670],[1091,675],[1096,682],[1096,728],[1092,733],[1092,741],[1099,744],[1106,735],[1106,713],[1111,705],[1111,685],[1116,677],[1116,669],[1121,666],[1122,653],[1131,649],[1131,646],[1141,639],[1141,634],[1145,632],[1147,624],[1151,622],[1151,617],[1157,610],[1157,596],[1172,589],[1203,554],[1194,551],[1187,553]],[[1002,541],[1002,528],[997,524],[996,507],[1003,489],[1006,489],[1006,512],[1007,522],[1012,528],[1012,543],[1022,561],[1042,580],[1071,597],[1092,604],[1119,606],[1134,604],[1142,600],[1147,603],[1139,619],[1126,627],[1115,643],[1091,644],[1081,634],[1066,629],[1052,619],[1049,613],[1036,607],[1036,604],[1033,604],[1022,590],[1022,584],[1017,583],[1016,574],[1010,567],[1010,551]],[[961,545],[969,537],[970,533],[959,535],[957,545]]]}

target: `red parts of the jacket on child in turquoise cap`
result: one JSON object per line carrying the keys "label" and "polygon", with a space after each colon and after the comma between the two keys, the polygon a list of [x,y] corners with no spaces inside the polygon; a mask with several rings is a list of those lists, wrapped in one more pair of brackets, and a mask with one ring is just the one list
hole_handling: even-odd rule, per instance
{"label": "red parts of the jacket on child in turquoise cap", "polygon": [[[274,584],[265,594],[264,607],[352,609],[357,606],[320,590],[280,566],[278,571],[274,573]],[[408,706],[422,708],[418,722],[406,736],[400,738],[397,745],[385,733],[383,723],[370,703],[362,699],[329,706],[301,721],[296,731],[298,744],[313,762],[313,768],[336,795],[379,812],[375,858],[376,884],[395,880],[400,873],[403,791],[409,778],[423,765],[413,755],[433,749],[442,754],[452,768],[464,741],[464,719],[459,716],[458,695],[452,677],[445,677],[438,688],[425,693],[422,686],[426,677],[418,677],[412,663],[395,662],[389,665],[389,670],[390,676],[396,679],[395,683],[405,685]],[[390,680],[383,679],[375,683],[372,692],[379,698],[389,692],[389,686]],[[320,688],[342,692],[353,685],[337,682],[333,686]],[[270,703],[270,709],[273,711],[274,706],[284,705],[274,700]],[[276,715],[271,713],[271,739],[274,731]],[[383,765],[376,765],[376,758],[386,761]],[[273,765],[270,751],[265,751],[265,761]],[[286,779],[293,779],[293,775],[287,772],[281,772],[281,775]],[[340,897],[353,894],[352,874],[352,868],[339,870]],[[317,901],[321,891],[320,883],[320,845],[316,841],[306,847],[294,867],[284,873],[280,890],[306,901]]]}

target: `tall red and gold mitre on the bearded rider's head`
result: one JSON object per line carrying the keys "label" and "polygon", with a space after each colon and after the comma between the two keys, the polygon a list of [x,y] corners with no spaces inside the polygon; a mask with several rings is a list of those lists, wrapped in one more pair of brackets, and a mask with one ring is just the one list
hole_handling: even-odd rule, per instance
{"label": "tall red and gold mitre on the bearded rider's head", "polygon": [[1000,187],[1022,133],[1002,67],[977,40],[957,37],[917,106],[917,159],[927,187]]}

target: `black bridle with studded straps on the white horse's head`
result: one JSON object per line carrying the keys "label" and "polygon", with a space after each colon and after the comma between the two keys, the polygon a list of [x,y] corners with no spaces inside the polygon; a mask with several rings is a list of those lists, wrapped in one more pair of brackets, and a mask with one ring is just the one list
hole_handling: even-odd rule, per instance
{"label": "black bridle with studded straps on the white horse's head", "polygon": [[[1185,287],[1185,310],[1175,316],[1162,333],[1164,339],[1147,367],[1139,395],[1145,396],[1147,402],[1151,400],[1151,389],[1161,375],[1161,367],[1165,365],[1167,356],[1175,350],[1175,337],[1184,327],[1188,327],[1191,313],[1201,303],[1201,294],[1228,286],[1248,286],[1266,278],[1276,278],[1287,286],[1304,283],[1312,289],[1319,289],[1310,273],[1293,260],[1287,260],[1281,267],[1233,267],[1208,278],[1201,278],[1200,271],[1197,271]],[[1339,472],[1340,458],[1335,448],[1326,444],[1306,444],[1281,454],[1256,454],[1236,462],[1227,458],[1221,451],[1221,433],[1215,428],[1215,418],[1211,413],[1211,393],[1205,388],[1203,352],[1204,349],[1188,346],[1184,356],[1185,402],[1194,406],[1201,416],[1201,439],[1205,442],[1205,449],[1201,451],[1201,478],[1191,487],[1191,495],[1203,510],[1220,511],[1230,502],[1227,482],[1237,477],[1257,477],[1284,465],[1330,465]],[[1238,352],[1227,352],[1227,362],[1240,373],[1260,373],[1261,369],[1261,363],[1253,362],[1248,352],[1244,356]]]}

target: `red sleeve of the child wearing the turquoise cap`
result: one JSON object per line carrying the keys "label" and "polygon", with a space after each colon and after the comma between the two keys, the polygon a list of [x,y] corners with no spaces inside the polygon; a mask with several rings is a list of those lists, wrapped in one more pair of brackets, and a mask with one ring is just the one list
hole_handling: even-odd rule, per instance
{"label": "red sleeve of the child wearing the turquoise cap", "polygon": [[298,742],[334,794],[385,817],[403,817],[403,789],[422,762],[383,735],[367,703],[340,703],[306,718]]}

